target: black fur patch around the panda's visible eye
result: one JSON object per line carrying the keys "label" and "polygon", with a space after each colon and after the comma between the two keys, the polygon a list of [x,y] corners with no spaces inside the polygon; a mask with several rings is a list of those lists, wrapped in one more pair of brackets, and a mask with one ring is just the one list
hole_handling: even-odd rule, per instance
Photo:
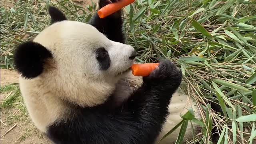
{"label": "black fur patch around the panda's visible eye", "polygon": [[98,60],[100,70],[107,70],[110,67],[110,57],[108,55],[108,51],[105,48],[97,48],[96,51],[96,59]]}

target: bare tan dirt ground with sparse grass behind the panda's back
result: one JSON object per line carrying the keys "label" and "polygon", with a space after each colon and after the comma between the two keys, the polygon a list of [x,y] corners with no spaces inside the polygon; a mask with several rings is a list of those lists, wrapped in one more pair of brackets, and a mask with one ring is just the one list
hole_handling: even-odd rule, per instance
{"label": "bare tan dirt ground with sparse grass behind the panda's back", "polygon": [[[73,0],[86,8],[91,0]],[[93,0],[97,2],[98,0]],[[12,4],[1,0],[1,5],[12,7]],[[18,91],[18,74],[13,70],[0,69],[1,78],[1,110],[0,110],[0,143],[1,144],[51,144],[31,122],[22,97]],[[15,97],[14,102],[11,97]],[[2,103],[10,102],[11,106],[2,107]]]}

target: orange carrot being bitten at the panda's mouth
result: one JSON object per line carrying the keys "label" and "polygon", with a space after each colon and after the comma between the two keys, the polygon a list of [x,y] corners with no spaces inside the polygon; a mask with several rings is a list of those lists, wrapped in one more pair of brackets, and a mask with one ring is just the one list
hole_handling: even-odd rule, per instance
{"label": "orange carrot being bitten at the panda's mouth", "polygon": [[159,63],[132,64],[131,70],[134,76],[148,76]]}

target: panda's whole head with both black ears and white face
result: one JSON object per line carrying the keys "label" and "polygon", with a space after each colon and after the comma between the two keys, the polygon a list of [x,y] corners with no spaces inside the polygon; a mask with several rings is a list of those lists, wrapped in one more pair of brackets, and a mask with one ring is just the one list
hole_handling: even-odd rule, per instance
{"label": "panda's whole head with both black ears and white face", "polygon": [[16,49],[20,82],[82,106],[104,102],[133,64],[134,48],[89,24],[67,20],[54,7],[49,14],[52,24]]}

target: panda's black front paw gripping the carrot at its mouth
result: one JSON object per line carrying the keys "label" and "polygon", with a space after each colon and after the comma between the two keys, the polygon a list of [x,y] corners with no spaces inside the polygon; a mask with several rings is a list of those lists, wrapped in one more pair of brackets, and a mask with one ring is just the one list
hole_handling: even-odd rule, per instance
{"label": "panda's black front paw gripping the carrot at its mouth", "polygon": [[146,85],[159,85],[178,87],[182,80],[182,72],[170,60],[164,60],[153,70],[149,76],[143,77]]}

